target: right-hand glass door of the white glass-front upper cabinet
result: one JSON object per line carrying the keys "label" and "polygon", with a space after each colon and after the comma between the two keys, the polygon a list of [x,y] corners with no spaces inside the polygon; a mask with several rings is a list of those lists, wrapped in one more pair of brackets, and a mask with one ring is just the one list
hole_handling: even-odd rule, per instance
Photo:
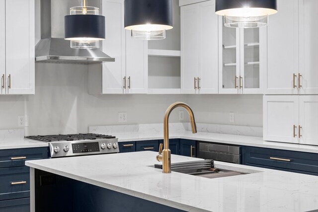
{"label": "right-hand glass door of the white glass-front upper cabinet", "polygon": [[259,28],[241,29],[240,40],[240,93],[255,93],[260,88]]}

